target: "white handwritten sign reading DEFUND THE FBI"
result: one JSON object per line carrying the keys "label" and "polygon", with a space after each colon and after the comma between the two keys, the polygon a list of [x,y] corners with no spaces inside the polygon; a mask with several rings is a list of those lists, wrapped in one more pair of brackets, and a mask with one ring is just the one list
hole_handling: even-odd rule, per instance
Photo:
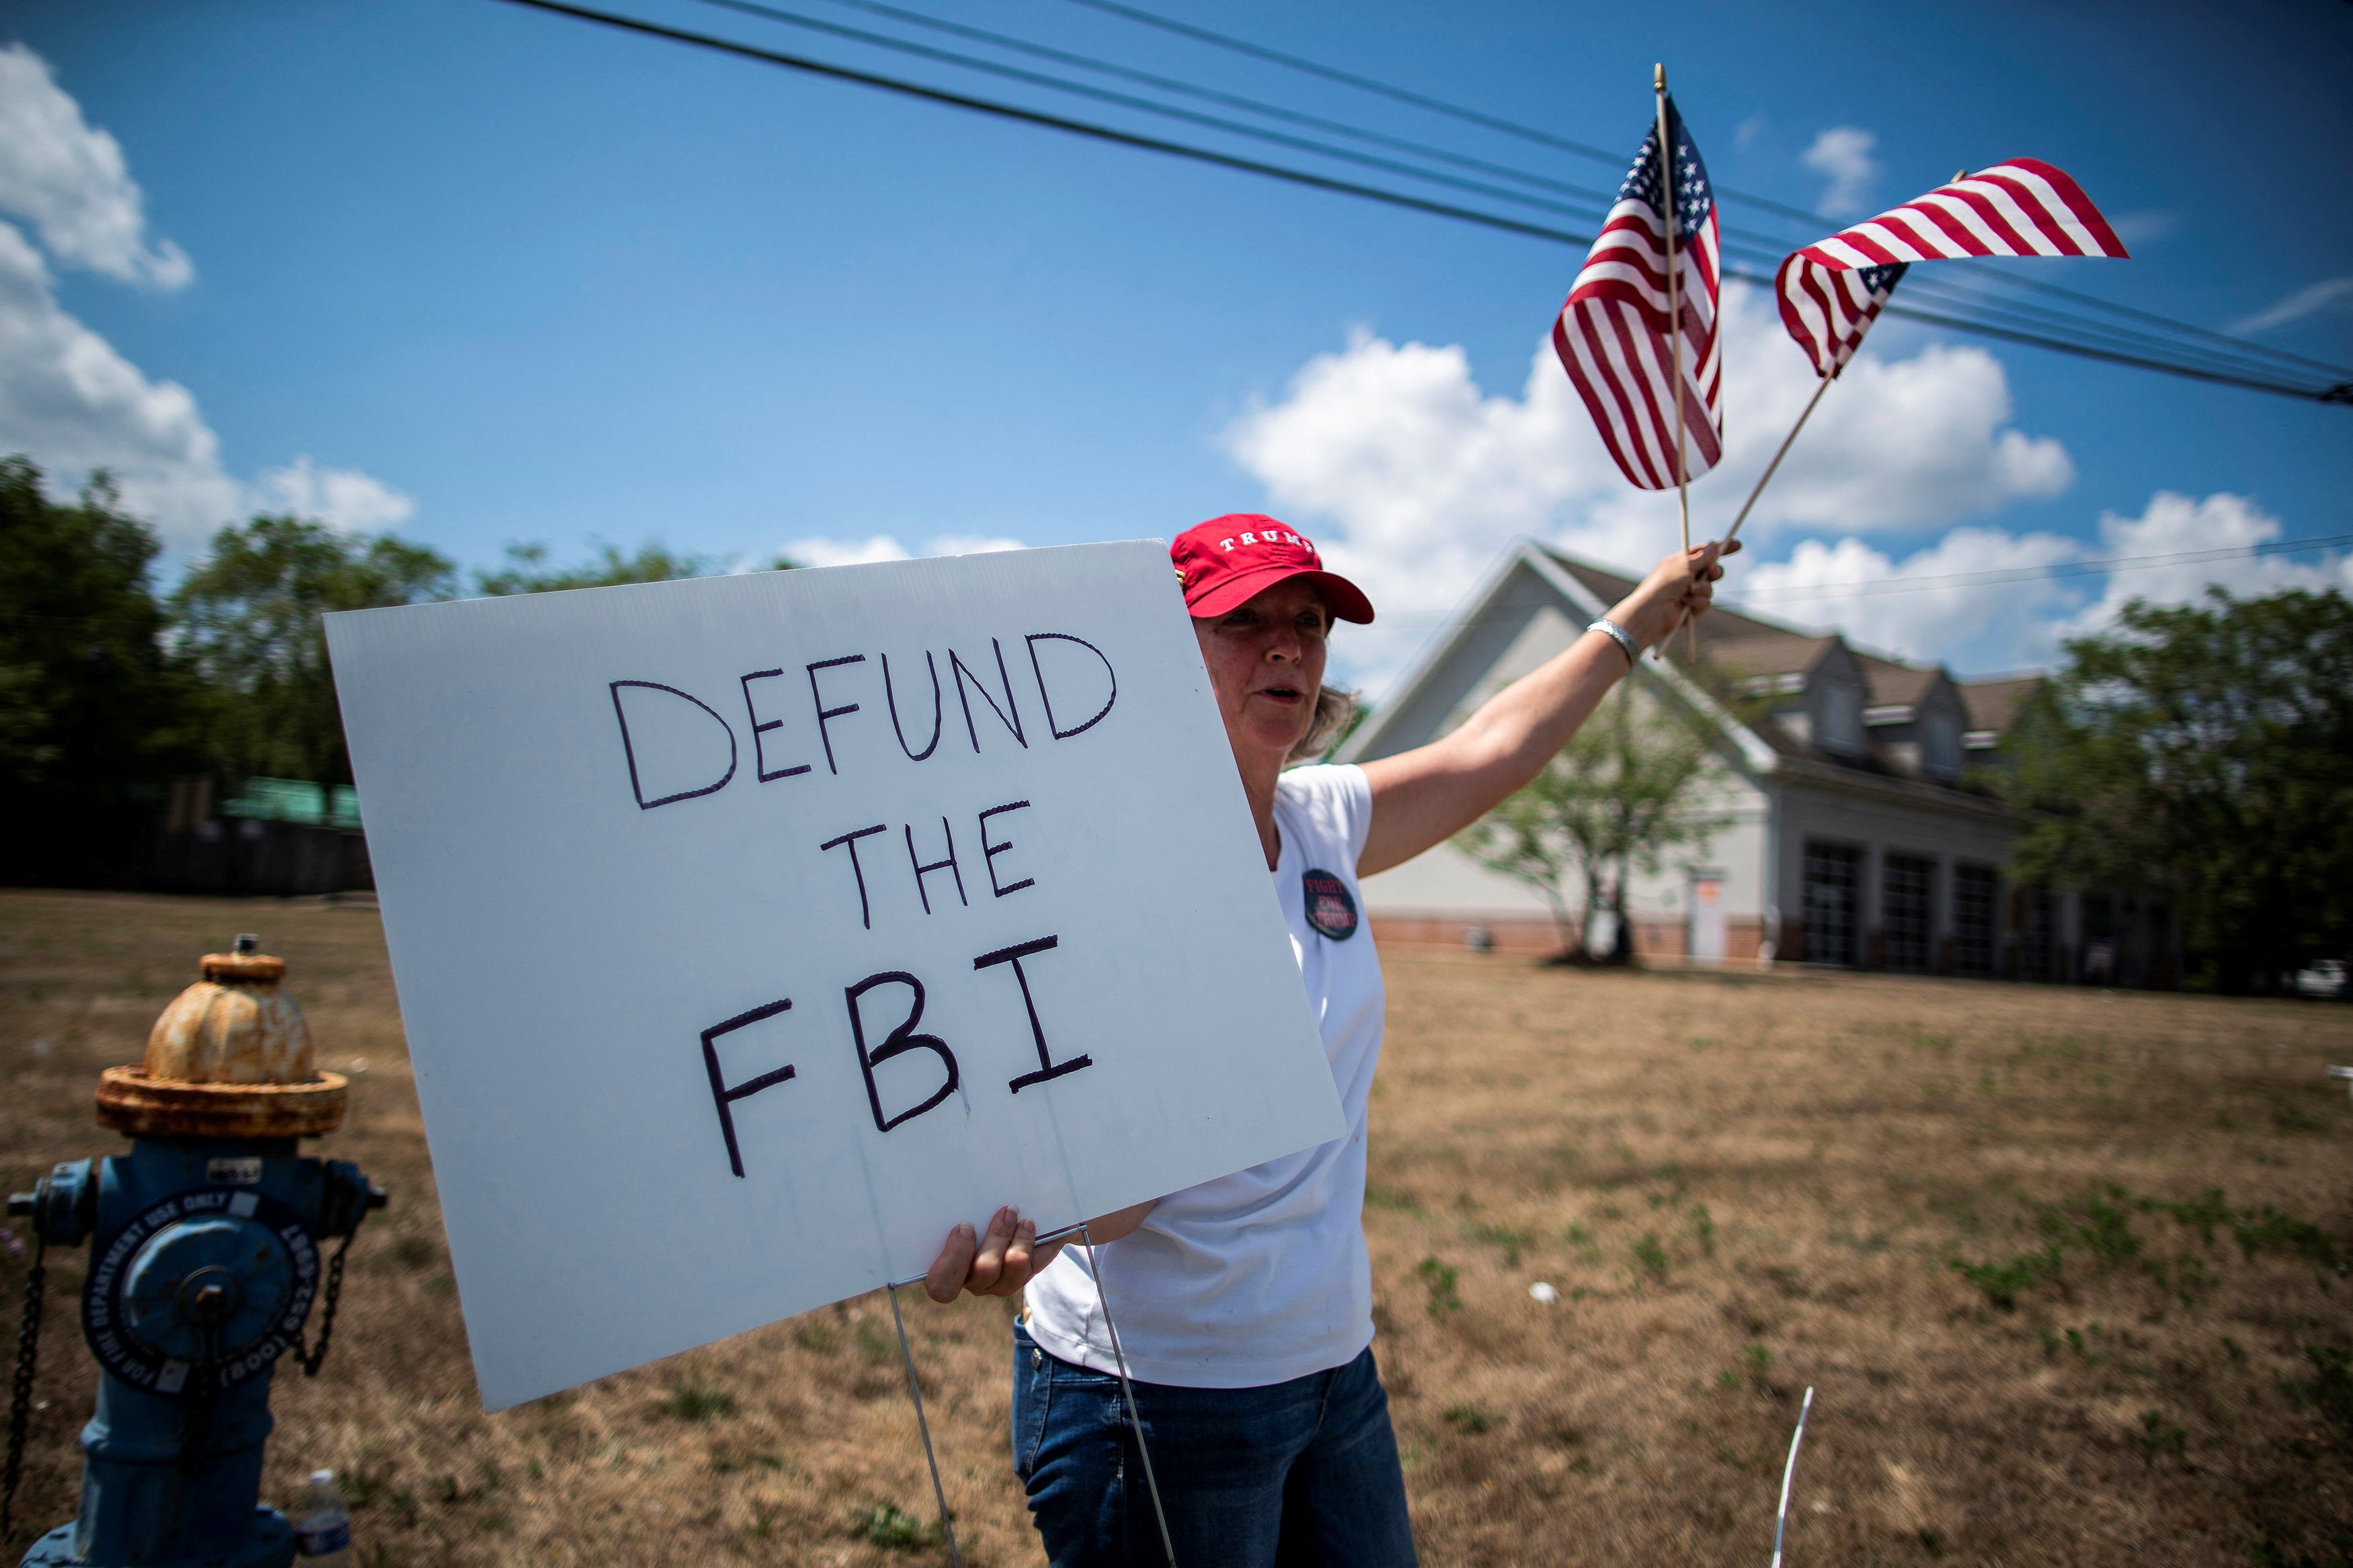
{"label": "white handwritten sign reading DEFUND THE FBI", "polygon": [[1162,545],[327,642],[487,1408],[1346,1135]]}

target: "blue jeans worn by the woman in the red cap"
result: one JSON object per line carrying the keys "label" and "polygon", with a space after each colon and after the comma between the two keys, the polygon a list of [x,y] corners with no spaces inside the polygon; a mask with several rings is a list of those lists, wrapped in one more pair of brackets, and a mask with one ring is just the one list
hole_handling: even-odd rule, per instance
{"label": "blue jeans worn by the woman in the red cap", "polygon": [[[1367,1347],[1257,1389],[1136,1382],[1176,1568],[1412,1568],[1405,1472]],[[1014,1324],[1014,1474],[1054,1568],[1165,1568],[1120,1380]]]}

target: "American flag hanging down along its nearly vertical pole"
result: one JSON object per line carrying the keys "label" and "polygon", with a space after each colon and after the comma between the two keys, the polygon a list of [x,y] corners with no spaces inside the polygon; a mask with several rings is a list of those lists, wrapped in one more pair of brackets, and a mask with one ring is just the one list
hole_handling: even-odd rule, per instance
{"label": "American flag hanging down along its nearly vertical pole", "polygon": [[[1675,143],[1675,287],[1682,353],[1668,348],[1666,205],[1659,129],[1619,186],[1619,200],[1586,252],[1569,299],[1553,322],[1553,350],[1593,414],[1619,470],[1640,489],[1675,489],[1675,397],[1682,400],[1685,475],[1697,480],[1722,456],[1722,355],[1715,350],[1715,190],[1699,148],[1666,101]],[[1675,390],[1668,390],[1675,388]]]}

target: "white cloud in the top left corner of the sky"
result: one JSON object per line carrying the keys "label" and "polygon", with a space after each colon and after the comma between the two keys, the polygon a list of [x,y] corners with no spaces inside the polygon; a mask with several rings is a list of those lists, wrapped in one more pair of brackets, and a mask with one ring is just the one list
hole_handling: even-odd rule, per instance
{"label": "white cloud in the top left corner of the sky", "polygon": [[176,244],[148,244],[122,143],[85,122],[49,63],[24,45],[0,49],[0,209],[33,223],[64,266],[151,289],[195,277]]}

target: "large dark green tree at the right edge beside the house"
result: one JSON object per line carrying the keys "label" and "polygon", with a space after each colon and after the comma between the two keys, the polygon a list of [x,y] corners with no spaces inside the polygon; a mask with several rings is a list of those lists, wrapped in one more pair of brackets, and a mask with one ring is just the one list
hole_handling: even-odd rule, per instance
{"label": "large dark green tree at the right edge beside the house", "polygon": [[2271,990],[2353,947],[2353,599],[2132,602],[2017,726],[2028,884],[2165,898],[2191,978]]}

